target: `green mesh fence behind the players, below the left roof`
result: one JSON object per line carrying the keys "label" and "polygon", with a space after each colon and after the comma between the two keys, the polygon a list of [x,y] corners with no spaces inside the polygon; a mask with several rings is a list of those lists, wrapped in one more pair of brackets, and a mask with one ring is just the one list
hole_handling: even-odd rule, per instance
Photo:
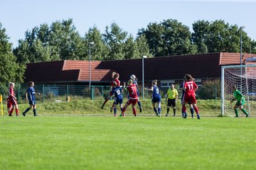
{"label": "green mesh fence behind the players, below the left roof", "polygon": [[[37,102],[45,101],[74,101],[82,99],[102,99],[110,94],[110,86],[91,86],[91,89],[87,85],[59,85],[59,84],[35,84],[34,85]],[[8,85],[0,86],[0,94],[3,94],[4,98],[8,96]],[[18,103],[26,102],[26,90],[28,84],[16,84],[14,92]],[[139,94],[142,96],[142,88],[139,86]],[[123,91],[123,97],[127,96],[127,91]],[[150,98],[151,96],[145,91],[145,97]],[[113,99],[113,98],[112,98]]]}

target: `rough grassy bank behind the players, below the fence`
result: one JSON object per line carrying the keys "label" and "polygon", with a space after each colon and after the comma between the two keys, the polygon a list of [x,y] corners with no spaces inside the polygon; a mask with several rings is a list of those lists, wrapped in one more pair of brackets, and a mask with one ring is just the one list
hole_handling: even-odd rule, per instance
{"label": "rough grassy bank behind the players, below the fence", "polygon": [[[100,109],[103,103],[102,100],[78,100],[71,102],[45,102],[37,103],[37,112],[38,115],[112,115],[110,113],[110,107],[112,106],[113,101],[108,101],[104,109]],[[124,100],[125,104],[126,100]],[[141,100],[142,102],[142,113],[138,115],[154,115],[154,111],[151,105],[151,99]],[[28,108],[28,103],[19,103],[18,108],[20,113]],[[137,109],[139,107],[137,106]],[[220,115],[220,101],[217,100],[198,100],[198,108],[202,116],[218,116]],[[139,110],[138,110],[139,111]],[[164,99],[161,102],[161,111],[162,114],[166,114],[166,103]],[[118,113],[120,109],[118,108]],[[170,111],[170,115],[173,111]],[[188,111],[189,113],[189,111]],[[7,114],[6,105],[4,104],[4,115]],[[33,115],[33,111],[29,111],[28,115]],[[127,115],[132,115],[132,108],[129,106],[127,109]],[[181,104],[177,103],[177,115],[181,116]],[[235,115],[235,113],[234,113]]]}

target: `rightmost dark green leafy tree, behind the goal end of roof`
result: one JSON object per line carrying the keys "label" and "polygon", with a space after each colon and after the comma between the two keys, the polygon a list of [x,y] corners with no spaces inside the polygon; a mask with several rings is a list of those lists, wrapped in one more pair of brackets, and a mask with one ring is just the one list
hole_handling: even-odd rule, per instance
{"label": "rightmost dark green leafy tree, behind the goal end of roof", "polygon": [[[193,23],[192,41],[198,53],[240,52],[240,27],[222,20],[213,22],[196,21]],[[242,30],[242,52],[249,53],[255,41]]]}

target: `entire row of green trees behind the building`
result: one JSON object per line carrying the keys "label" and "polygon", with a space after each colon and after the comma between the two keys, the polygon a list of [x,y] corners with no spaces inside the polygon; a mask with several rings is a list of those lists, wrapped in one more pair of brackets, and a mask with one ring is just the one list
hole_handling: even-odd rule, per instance
{"label": "entire row of green trees behind the building", "polygon": [[174,19],[149,23],[138,30],[137,37],[122,30],[117,23],[106,26],[100,33],[97,26],[89,28],[85,35],[76,30],[73,20],[43,23],[26,30],[25,38],[18,46],[11,47],[5,28],[0,23],[0,81],[22,81],[28,62],[56,60],[127,60],[149,57],[193,55],[211,52],[256,53],[256,42],[245,30],[222,20],[195,21],[193,32],[188,26]]}

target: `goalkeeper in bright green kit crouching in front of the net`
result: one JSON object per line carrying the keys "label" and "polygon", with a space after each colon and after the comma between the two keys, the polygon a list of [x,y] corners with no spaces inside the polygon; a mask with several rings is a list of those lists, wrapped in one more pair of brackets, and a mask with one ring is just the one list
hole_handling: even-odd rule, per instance
{"label": "goalkeeper in bright green kit crouching in front of the net", "polygon": [[235,101],[235,99],[237,100],[237,103],[235,103],[234,106],[234,111],[235,111],[235,118],[238,118],[238,107],[240,108],[240,110],[245,113],[246,118],[249,116],[249,114],[245,111],[244,108],[242,108],[242,106],[245,104],[245,98],[244,96],[242,96],[241,92],[238,91],[238,89],[236,89],[235,86],[233,86],[233,90],[234,90],[234,96],[235,98],[233,98],[230,103],[232,103],[233,101]]}

